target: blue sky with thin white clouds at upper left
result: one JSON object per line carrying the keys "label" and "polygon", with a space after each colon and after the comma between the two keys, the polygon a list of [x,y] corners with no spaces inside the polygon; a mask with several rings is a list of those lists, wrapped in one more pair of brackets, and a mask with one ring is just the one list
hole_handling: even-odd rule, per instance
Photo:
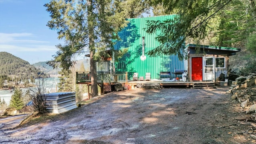
{"label": "blue sky with thin white clouds at upper left", "polygon": [[8,52],[30,64],[52,60],[58,51],[56,30],[46,26],[50,0],[0,0],[0,52]]}

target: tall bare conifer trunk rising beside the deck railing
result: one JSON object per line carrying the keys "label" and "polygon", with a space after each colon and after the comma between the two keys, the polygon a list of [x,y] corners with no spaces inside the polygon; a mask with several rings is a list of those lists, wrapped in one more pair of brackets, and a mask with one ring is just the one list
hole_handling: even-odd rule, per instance
{"label": "tall bare conifer trunk rising beside the deck railing", "polygon": [[[93,60],[93,55],[95,54],[95,43],[94,43],[94,14],[92,12],[92,0],[88,0],[88,32],[89,32],[89,50],[90,50],[90,72],[91,72],[91,90],[92,97],[98,96],[98,84],[97,84],[97,72],[96,63]],[[90,99],[90,95],[88,96]]]}

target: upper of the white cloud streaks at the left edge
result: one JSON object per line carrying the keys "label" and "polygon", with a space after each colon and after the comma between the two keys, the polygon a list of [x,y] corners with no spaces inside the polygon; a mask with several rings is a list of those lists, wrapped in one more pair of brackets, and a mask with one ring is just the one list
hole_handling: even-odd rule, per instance
{"label": "upper of the white cloud streaks at the left edge", "polygon": [[31,40],[35,36],[31,33],[0,33],[0,44],[8,43],[46,43],[46,41]]}

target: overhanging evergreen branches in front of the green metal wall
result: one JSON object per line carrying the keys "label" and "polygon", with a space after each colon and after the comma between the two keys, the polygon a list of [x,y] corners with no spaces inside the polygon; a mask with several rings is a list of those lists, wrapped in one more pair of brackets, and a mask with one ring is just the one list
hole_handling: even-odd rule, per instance
{"label": "overhanging evergreen branches in front of the green metal wall", "polygon": [[[153,0],[152,4],[163,4],[166,13],[176,13],[173,19],[151,21],[146,32],[160,33],[156,40],[160,46],[148,52],[151,56],[177,54],[186,56],[186,40],[202,40],[208,34],[212,18],[231,4],[232,0]],[[199,42],[199,41],[198,41]]]}

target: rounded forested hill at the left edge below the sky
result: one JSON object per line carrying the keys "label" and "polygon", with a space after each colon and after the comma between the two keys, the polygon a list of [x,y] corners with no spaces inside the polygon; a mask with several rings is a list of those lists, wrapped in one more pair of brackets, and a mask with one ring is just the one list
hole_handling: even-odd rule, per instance
{"label": "rounded forested hill at the left edge below the sky", "polygon": [[36,68],[29,62],[8,52],[0,52],[0,75],[16,75],[19,78],[28,78],[35,72]]}

